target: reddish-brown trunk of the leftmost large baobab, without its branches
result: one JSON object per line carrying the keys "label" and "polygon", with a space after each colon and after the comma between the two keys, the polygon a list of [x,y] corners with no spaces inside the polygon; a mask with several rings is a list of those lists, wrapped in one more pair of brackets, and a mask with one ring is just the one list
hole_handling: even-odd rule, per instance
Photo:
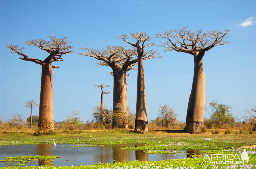
{"label": "reddish-brown trunk of the leftmost large baobab, without its branches", "polygon": [[39,129],[54,130],[52,80],[53,80],[52,66],[50,63],[45,63],[42,66],[39,122],[38,122]]}

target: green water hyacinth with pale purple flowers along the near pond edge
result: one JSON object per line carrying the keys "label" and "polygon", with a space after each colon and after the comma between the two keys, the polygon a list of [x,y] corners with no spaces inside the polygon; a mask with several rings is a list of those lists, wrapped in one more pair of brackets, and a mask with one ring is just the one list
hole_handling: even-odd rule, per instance
{"label": "green water hyacinth with pale purple flowers along the near pond edge", "polygon": [[[216,154],[230,154],[230,153],[242,153],[242,149],[232,149],[232,150],[209,150],[205,151],[205,153],[216,153]],[[253,148],[248,153],[250,158],[248,164],[245,163],[243,165],[238,164],[221,164],[214,165],[210,164],[210,162],[204,159],[202,156],[198,158],[185,158],[185,159],[169,159],[169,160],[161,160],[161,161],[131,161],[131,162],[116,162],[113,164],[104,164],[100,163],[97,165],[81,165],[74,166],[72,165],[72,161],[70,162],[70,166],[8,166],[4,167],[5,169],[63,169],[63,168],[76,168],[76,169],[235,169],[235,168],[243,168],[243,169],[254,169],[256,168],[256,149]],[[27,156],[28,157],[28,156]]]}

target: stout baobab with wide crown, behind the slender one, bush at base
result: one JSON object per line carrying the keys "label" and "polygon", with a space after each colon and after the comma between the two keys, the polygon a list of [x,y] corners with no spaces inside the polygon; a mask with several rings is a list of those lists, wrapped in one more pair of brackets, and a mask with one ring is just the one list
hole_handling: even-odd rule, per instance
{"label": "stout baobab with wide crown, behind the slender one, bush at base", "polygon": [[[85,52],[80,52],[79,55],[93,57],[100,62],[95,63],[98,66],[109,66],[113,72],[113,112],[119,111],[119,106],[127,107],[127,72],[136,65],[135,50],[125,49],[122,46],[107,46],[106,49],[97,50],[89,48],[80,48]],[[120,109],[121,111],[121,109]],[[116,118],[113,118],[112,127],[119,127]]]}

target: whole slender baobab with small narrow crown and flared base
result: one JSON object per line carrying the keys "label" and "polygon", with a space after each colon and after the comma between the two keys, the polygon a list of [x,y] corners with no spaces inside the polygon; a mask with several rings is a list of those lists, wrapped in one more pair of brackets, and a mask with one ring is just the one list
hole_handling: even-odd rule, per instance
{"label": "whole slender baobab with small narrow crown and flared base", "polygon": [[130,37],[132,37],[136,41],[136,43],[131,43],[127,41],[128,39],[127,34],[122,34],[118,38],[130,44],[137,50],[136,56],[138,59],[138,77],[137,77],[137,102],[136,102],[136,116],[135,116],[134,131],[137,133],[147,133],[148,120],[147,120],[147,103],[146,103],[143,59],[158,58],[159,55],[157,51],[153,49],[149,51],[144,51],[144,48],[155,45],[154,42],[145,44],[152,39],[147,33],[145,32],[131,33]]}

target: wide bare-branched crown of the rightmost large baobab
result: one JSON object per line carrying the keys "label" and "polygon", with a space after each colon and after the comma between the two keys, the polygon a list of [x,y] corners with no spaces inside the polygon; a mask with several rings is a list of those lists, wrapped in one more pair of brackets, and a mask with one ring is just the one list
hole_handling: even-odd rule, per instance
{"label": "wide bare-branched crown of the rightmost large baobab", "polygon": [[193,55],[194,52],[205,52],[214,46],[227,44],[226,38],[229,32],[230,29],[202,33],[201,29],[191,32],[187,28],[181,28],[164,30],[163,33],[155,34],[155,36],[166,39],[160,45],[165,48],[165,52],[175,50]]}

